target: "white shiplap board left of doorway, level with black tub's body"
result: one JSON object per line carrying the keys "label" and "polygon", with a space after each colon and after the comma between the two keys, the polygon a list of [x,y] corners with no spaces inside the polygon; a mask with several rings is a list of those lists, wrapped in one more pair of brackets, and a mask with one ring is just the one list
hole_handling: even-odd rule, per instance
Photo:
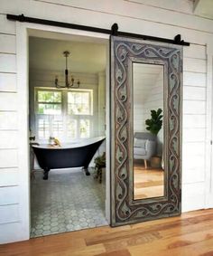
{"label": "white shiplap board left of doorway, level with black tub's body", "polygon": [[0,168],[18,166],[17,149],[0,149]]}

